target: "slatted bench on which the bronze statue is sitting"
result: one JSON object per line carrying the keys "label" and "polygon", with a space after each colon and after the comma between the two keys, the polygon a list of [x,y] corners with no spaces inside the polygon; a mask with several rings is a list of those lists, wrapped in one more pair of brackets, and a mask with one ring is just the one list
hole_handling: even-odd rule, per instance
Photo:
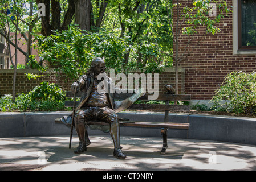
{"label": "slatted bench on which the bronze statue is sitting", "polygon": [[[128,98],[131,94],[120,93],[114,94],[115,100],[123,100],[124,98]],[[150,101],[148,99],[149,94],[145,94],[140,97],[138,100],[141,101]],[[66,97],[73,97],[72,92],[68,91],[66,93]],[[81,93],[77,93],[76,97],[81,97]],[[127,110],[147,110],[147,111],[164,111],[165,117],[162,122],[141,122],[141,121],[128,121],[127,119],[120,119],[120,126],[129,126],[129,127],[149,127],[149,128],[159,128],[161,129],[161,134],[163,137],[163,147],[161,150],[161,154],[165,154],[166,149],[168,147],[167,144],[167,130],[168,129],[189,129],[189,123],[177,123],[177,122],[168,122],[169,111],[189,111],[189,105],[176,105],[169,104],[169,101],[190,101],[190,95],[182,95],[182,94],[159,94],[157,101],[165,101],[165,104],[132,104],[128,107]],[[78,101],[76,101],[78,104]],[[73,107],[73,101],[65,101],[66,107]],[[61,118],[56,118],[55,123],[63,123]],[[108,127],[108,123],[104,123],[101,121],[90,121],[88,123],[89,126],[106,126]],[[98,129],[97,127],[95,129]]]}

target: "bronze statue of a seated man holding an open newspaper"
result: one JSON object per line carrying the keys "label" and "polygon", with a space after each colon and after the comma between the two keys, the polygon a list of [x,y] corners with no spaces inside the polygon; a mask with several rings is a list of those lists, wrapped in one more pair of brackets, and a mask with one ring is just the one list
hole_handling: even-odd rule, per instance
{"label": "bronze statue of a seated man holding an open newspaper", "polygon": [[[76,108],[74,115],[74,123],[76,133],[79,138],[79,146],[74,151],[76,154],[80,154],[87,150],[90,140],[87,134],[87,122],[93,119],[97,119],[102,122],[109,123],[109,132],[114,143],[113,155],[118,159],[125,159],[126,155],[121,150],[120,146],[120,129],[119,129],[119,117],[115,112],[115,101],[113,100],[113,94],[111,92],[98,92],[97,88],[101,80],[97,80],[97,76],[105,72],[105,62],[100,57],[95,57],[92,60],[91,68],[88,69],[86,75],[82,75],[78,81],[71,85],[71,91],[73,93],[82,92],[82,97],[78,107]],[[112,84],[112,80],[109,77],[105,77],[104,81],[107,81],[108,85]],[[101,88],[107,87],[106,85]],[[78,89],[76,89],[78,88]],[[109,86],[110,88],[110,86]],[[109,91],[108,88],[108,91]],[[104,90],[105,88],[103,88]],[[134,94],[135,95],[135,94]],[[133,97],[128,102],[123,102],[122,109],[126,109],[137,98],[142,96],[142,93],[137,93],[136,97]],[[120,105],[119,105],[120,107]]]}

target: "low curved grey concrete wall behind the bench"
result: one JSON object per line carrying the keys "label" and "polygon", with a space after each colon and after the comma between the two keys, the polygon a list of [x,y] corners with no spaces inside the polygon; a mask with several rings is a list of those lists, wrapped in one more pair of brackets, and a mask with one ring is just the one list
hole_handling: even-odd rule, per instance
{"label": "low curved grey concrete wall behind the bench", "polygon": [[[68,114],[70,112],[0,113],[0,137],[70,135],[70,128],[54,123],[55,118]],[[162,113],[123,112],[119,116],[131,121],[164,121]],[[169,122],[190,123],[189,130],[169,129],[169,138],[256,144],[256,118],[170,113]],[[120,130],[124,136],[161,137],[160,129],[121,127]],[[100,130],[89,130],[88,133],[109,135]]]}

